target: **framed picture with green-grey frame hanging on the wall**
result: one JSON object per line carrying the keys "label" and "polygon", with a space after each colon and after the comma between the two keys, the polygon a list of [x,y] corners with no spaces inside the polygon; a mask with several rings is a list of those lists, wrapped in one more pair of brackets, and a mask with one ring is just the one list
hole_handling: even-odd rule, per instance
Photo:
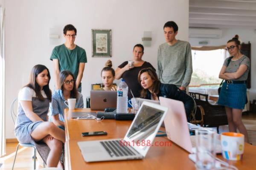
{"label": "framed picture with green-grey frame hanging on the wall", "polygon": [[92,57],[112,57],[111,29],[92,29]]}

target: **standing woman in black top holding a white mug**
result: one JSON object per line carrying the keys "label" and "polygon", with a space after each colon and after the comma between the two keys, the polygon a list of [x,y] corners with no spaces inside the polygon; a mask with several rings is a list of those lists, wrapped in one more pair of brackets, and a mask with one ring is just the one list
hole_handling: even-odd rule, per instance
{"label": "standing woman in black top holding a white mug", "polygon": [[[131,99],[134,94],[134,97],[140,96],[140,91],[142,90],[140,83],[134,81],[137,79],[138,74],[143,68],[155,68],[149,63],[142,59],[144,54],[144,47],[141,44],[134,45],[133,49],[133,59],[131,61],[125,61],[116,68],[116,79],[123,78],[125,79],[126,84],[128,85],[128,98]],[[131,91],[130,91],[131,90]]]}

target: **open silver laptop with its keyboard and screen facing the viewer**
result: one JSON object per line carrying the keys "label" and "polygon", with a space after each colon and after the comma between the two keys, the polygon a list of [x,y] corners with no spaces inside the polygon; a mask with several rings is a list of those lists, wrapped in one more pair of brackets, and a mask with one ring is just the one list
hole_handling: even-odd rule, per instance
{"label": "open silver laptop with its keyboard and screen facing the viewer", "polygon": [[143,159],[163,122],[167,108],[143,102],[124,139],[77,142],[87,162]]}

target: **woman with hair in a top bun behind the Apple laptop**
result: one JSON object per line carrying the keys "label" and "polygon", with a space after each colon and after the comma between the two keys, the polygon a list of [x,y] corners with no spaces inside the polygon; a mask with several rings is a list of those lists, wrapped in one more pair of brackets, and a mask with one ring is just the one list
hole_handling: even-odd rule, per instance
{"label": "woman with hair in a top bun behind the Apple laptop", "polygon": [[102,68],[101,77],[104,88],[100,88],[99,90],[116,91],[116,85],[113,85],[115,71],[112,68],[112,62],[110,59],[106,62],[105,67]]}

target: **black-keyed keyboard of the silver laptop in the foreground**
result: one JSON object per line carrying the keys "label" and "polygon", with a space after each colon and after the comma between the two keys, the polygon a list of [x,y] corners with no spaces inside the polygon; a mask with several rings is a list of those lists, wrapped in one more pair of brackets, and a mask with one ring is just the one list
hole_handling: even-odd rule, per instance
{"label": "black-keyed keyboard of the silver laptop in the foreground", "polygon": [[100,144],[102,144],[111,157],[135,156],[139,154],[136,150],[131,150],[131,147],[127,146],[127,144],[121,143],[120,140],[101,141]]}

